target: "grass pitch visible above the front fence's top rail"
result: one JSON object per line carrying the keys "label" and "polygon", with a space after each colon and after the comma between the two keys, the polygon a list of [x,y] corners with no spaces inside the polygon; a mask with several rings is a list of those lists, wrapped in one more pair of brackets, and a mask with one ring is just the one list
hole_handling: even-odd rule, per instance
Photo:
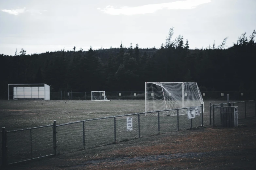
{"label": "grass pitch visible above the front fence's top rail", "polygon": [[[226,101],[204,101],[205,118],[209,114],[209,103]],[[42,105],[43,104],[43,105]],[[0,126],[8,131],[58,124],[108,116],[145,112],[145,100],[111,100],[105,102],[83,100],[7,101],[0,102]]]}

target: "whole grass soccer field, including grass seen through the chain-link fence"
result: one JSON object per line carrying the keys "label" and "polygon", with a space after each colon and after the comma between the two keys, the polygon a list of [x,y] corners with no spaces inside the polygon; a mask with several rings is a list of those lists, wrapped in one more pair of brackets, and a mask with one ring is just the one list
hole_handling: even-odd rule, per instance
{"label": "whole grass soccer field, including grass seen through the chain-link fence", "polygon": [[[211,101],[215,104],[220,102],[225,103],[225,101]],[[113,118],[68,125],[62,125],[63,123],[140,113],[144,112],[145,109],[144,100],[111,100],[106,102],[75,100],[1,101],[0,104],[0,125],[6,127],[7,131],[51,125],[53,120],[57,120],[58,154],[95,148],[114,142]],[[188,129],[191,126],[185,113],[186,109],[179,110],[179,129]],[[117,141],[138,138],[138,115],[132,117],[132,131],[126,131],[127,116],[116,118]],[[147,116],[141,114],[140,136],[177,131],[177,111],[171,111],[170,116],[160,116],[159,122],[160,131],[158,131],[157,114],[148,114]],[[209,124],[209,103],[205,101],[204,125]],[[200,125],[201,117],[198,116],[193,119],[192,127]],[[83,139],[83,133],[85,139]],[[32,130],[9,132],[8,163],[50,155],[53,153],[52,146],[52,125]]]}

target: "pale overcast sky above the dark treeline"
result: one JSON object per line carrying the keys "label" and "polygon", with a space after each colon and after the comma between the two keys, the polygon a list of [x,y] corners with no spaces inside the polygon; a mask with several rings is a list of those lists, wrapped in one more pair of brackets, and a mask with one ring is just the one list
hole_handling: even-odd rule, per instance
{"label": "pale overcast sky above the dark treeline", "polygon": [[159,48],[174,27],[190,48],[227,45],[256,29],[256,0],[0,0],[0,53]]}

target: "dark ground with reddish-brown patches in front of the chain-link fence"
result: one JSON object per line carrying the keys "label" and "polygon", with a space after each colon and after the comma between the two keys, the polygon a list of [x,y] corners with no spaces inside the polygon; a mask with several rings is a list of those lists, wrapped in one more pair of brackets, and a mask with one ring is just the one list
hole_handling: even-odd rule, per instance
{"label": "dark ground with reddish-brown patches in front of the chain-link fence", "polygon": [[256,169],[256,118],[10,165],[8,169]]}

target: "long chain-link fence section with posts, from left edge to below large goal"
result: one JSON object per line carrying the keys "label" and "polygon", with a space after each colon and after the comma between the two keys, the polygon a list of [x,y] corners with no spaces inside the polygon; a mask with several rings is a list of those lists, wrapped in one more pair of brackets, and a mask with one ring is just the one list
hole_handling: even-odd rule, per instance
{"label": "long chain-link fence section with posts, from left edge to below large goal", "polygon": [[[45,156],[104,146],[170,131],[203,125],[203,105],[200,116],[188,120],[187,109],[170,109],[81,120],[65,124],[6,131],[2,128],[2,165],[24,162]],[[145,114],[146,113],[146,114]],[[132,118],[132,130],[127,130],[127,118]]]}

